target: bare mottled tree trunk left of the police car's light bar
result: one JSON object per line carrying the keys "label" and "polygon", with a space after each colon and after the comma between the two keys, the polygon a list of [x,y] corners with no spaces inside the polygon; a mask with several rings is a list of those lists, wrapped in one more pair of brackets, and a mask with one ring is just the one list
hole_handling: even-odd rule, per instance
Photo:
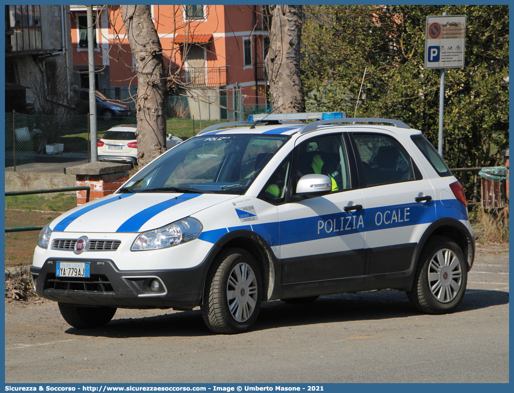
{"label": "bare mottled tree trunk left of the police car's light bar", "polygon": [[137,150],[143,167],[166,151],[166,70],[148,5],[123,5],[121,16],[137,72]]}

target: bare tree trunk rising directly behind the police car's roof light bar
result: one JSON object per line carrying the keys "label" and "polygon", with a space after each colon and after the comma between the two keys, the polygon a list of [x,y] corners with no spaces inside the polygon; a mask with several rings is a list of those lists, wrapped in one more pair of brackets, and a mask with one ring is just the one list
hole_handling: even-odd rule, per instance
{"label": "bare tree trunk rising directly behind the police car's roof light bar", "polygon": [[305,112],[300,79],[302,23],[302,6],[274,6],[265,63],[271,102],[277,113]]}

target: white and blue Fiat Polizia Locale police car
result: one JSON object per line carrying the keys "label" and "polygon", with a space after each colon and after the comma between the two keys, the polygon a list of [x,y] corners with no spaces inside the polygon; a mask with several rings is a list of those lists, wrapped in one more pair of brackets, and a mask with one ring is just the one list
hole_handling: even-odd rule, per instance
{"label": "white and blue Fiat Polizia Locale police car", "polygon": [[76,328],[117,308],[199,306],[212,331],[238,333],[263,301],[381,289],[453,311],[474,258],[461,184],[420,131],[344,117],[204,129],[48,224],[35,292]]}

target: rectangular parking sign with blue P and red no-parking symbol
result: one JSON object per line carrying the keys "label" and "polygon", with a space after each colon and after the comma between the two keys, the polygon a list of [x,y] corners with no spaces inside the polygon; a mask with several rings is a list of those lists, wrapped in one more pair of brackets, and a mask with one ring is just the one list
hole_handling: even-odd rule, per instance
{"label": "rectangular parking sign with blue P and red no-parking symbol", "polygon": [[464,67],[466,15],[427,16],[425,68]]}

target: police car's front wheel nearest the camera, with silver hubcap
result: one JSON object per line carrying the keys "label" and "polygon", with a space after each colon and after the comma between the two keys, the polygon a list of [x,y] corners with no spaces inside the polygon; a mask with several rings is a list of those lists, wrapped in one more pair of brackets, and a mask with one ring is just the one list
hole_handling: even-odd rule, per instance
{"label": "police car's front wheel nearest the camera, with silver hubcap", "polygon": [[242,333],[250,329],[262,301],[261,270],[246,250],[228,248],[214,260],[200,305],[207,327],[215,333]]}

